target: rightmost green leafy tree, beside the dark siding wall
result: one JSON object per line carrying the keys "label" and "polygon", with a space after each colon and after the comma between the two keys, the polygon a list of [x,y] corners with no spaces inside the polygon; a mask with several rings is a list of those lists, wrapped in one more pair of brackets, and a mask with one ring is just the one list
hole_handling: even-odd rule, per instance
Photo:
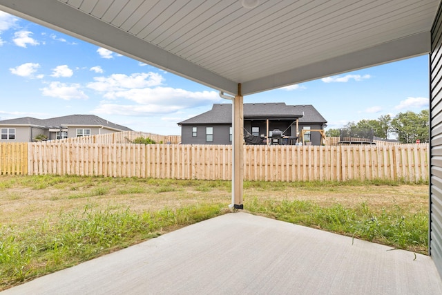
{"label": "rightmost green leafy tree, beside the dark siding wall", "polygon": [[428,142],[429,139],[429,112],[421,113],[407,111],[398,113],[392,120],[392,129],[397,133],[398,140],[402,143],[414,143],[416,140]]}

